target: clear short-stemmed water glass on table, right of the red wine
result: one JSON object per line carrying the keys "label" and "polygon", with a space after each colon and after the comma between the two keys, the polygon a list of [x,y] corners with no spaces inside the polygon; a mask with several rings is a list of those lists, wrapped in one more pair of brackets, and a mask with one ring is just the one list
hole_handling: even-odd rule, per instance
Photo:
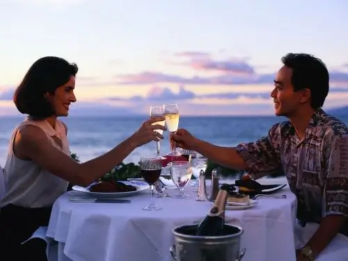
{"label": "clear short-stemmed water glass on table, right of the red wine", "polygon": [[191,180],[191,163],[189,161],[173,161],[170,165],[170,173],[175,186],[179,189],[179,193],[172,197],[186,198],[186,195],[184,195],[184,187],[186,187]]}

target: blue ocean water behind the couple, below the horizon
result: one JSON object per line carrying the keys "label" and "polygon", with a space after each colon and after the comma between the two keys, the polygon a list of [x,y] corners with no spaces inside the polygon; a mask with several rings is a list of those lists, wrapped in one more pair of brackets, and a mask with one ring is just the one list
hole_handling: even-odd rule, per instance
{"label": "blue ocean water behind the couple, below the horizon", "polygon": [[[341,117],[348,125],[348,116]],[[10,135],[22,117],[0,117],[0,165],[4,166],[8,151]],[[61,118],[68,126],[68,140],[71,152],[77,153],[79,159],[88,161],[111,150],[121,141],[132,135],[139,128],[144,117],[87,117],[69,116]],[[286,120],[283,117],[184,117],[179,126],[189,130],[199,139],[216,145],[233,146],[240,142],[255,141],[267,132],[276,122]],[[168,132],[161,141],[161,155],[170,152]],[[141,157],[156,154],[156,143],[151,142],[137,148],[124,162],[139,162]]]}

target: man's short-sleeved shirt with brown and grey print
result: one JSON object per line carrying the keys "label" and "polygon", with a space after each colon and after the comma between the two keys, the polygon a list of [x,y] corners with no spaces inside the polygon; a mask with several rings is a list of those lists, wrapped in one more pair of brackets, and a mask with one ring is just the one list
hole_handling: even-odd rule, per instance
{"label": "man's short-sleeved shirt with brown and grey print", "polygon": [[[285,173],[296,195],[297,219],[320,223],[324,216],[348,216],[348,128],[322,109],[313,113],[303,139],[280,122],[253,143],[237,145],[254,179]],[[341,233],[348,236],[348,223]]]}

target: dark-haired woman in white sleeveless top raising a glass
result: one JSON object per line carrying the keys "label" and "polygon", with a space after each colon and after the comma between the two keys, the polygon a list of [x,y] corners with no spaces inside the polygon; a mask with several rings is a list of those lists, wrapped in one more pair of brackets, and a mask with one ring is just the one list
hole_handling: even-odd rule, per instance
{"label": "dark-haired woman in white sleeveless top raising a glass", "polygon": [[86,187],[134,149],[163,139],[154,130],[165,128],[152,123],[164,118],[152,118],[104,155],[84,164],[74,161],[70,157],[68,129],[57,118],[68,116],[70,104],[76,102],[77,71],[77,65],[62,58],[40,58],[15,91],[18,111],[29,117],[13,131],[4,168],[6,194],[0,200],[1,261],[24,260],[24,257],[45,260],[45,246],[21,243],[40,226],[47,226],[52,205],[65,193],[68,182]]}

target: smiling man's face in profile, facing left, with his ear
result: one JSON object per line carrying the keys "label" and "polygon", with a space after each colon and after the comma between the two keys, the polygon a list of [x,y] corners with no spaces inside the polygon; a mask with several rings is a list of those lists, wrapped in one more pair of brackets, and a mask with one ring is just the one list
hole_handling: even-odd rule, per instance
{"label": "smiling man's face in profile, facing left, with his ear", "polygon": [[308,102],[308,89],[294,92],[292,86],[292,69],[283,66],[278,70],[276,79],[274,80],[274,90],[271,97],[274,99],[274,108],[276,116],[285,116],[290,118],[298,113],[301,104]]}

